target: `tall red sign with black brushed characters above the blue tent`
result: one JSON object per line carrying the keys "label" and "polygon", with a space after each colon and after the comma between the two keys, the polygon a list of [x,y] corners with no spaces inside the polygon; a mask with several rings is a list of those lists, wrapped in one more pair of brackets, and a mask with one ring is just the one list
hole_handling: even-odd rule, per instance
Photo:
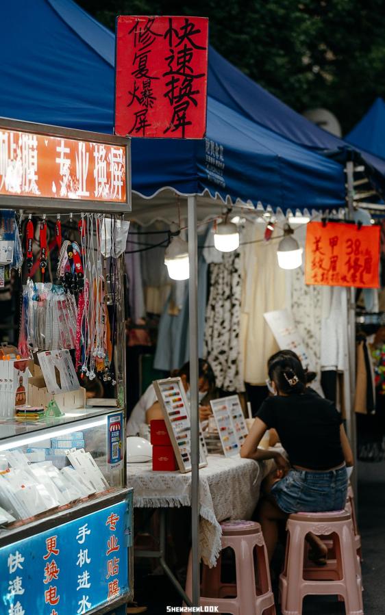
{"label": "tall red sign with black brushed characters above the blue tent", "polygon": [[115,134],[203,139],[208,18],[120,16]]}

